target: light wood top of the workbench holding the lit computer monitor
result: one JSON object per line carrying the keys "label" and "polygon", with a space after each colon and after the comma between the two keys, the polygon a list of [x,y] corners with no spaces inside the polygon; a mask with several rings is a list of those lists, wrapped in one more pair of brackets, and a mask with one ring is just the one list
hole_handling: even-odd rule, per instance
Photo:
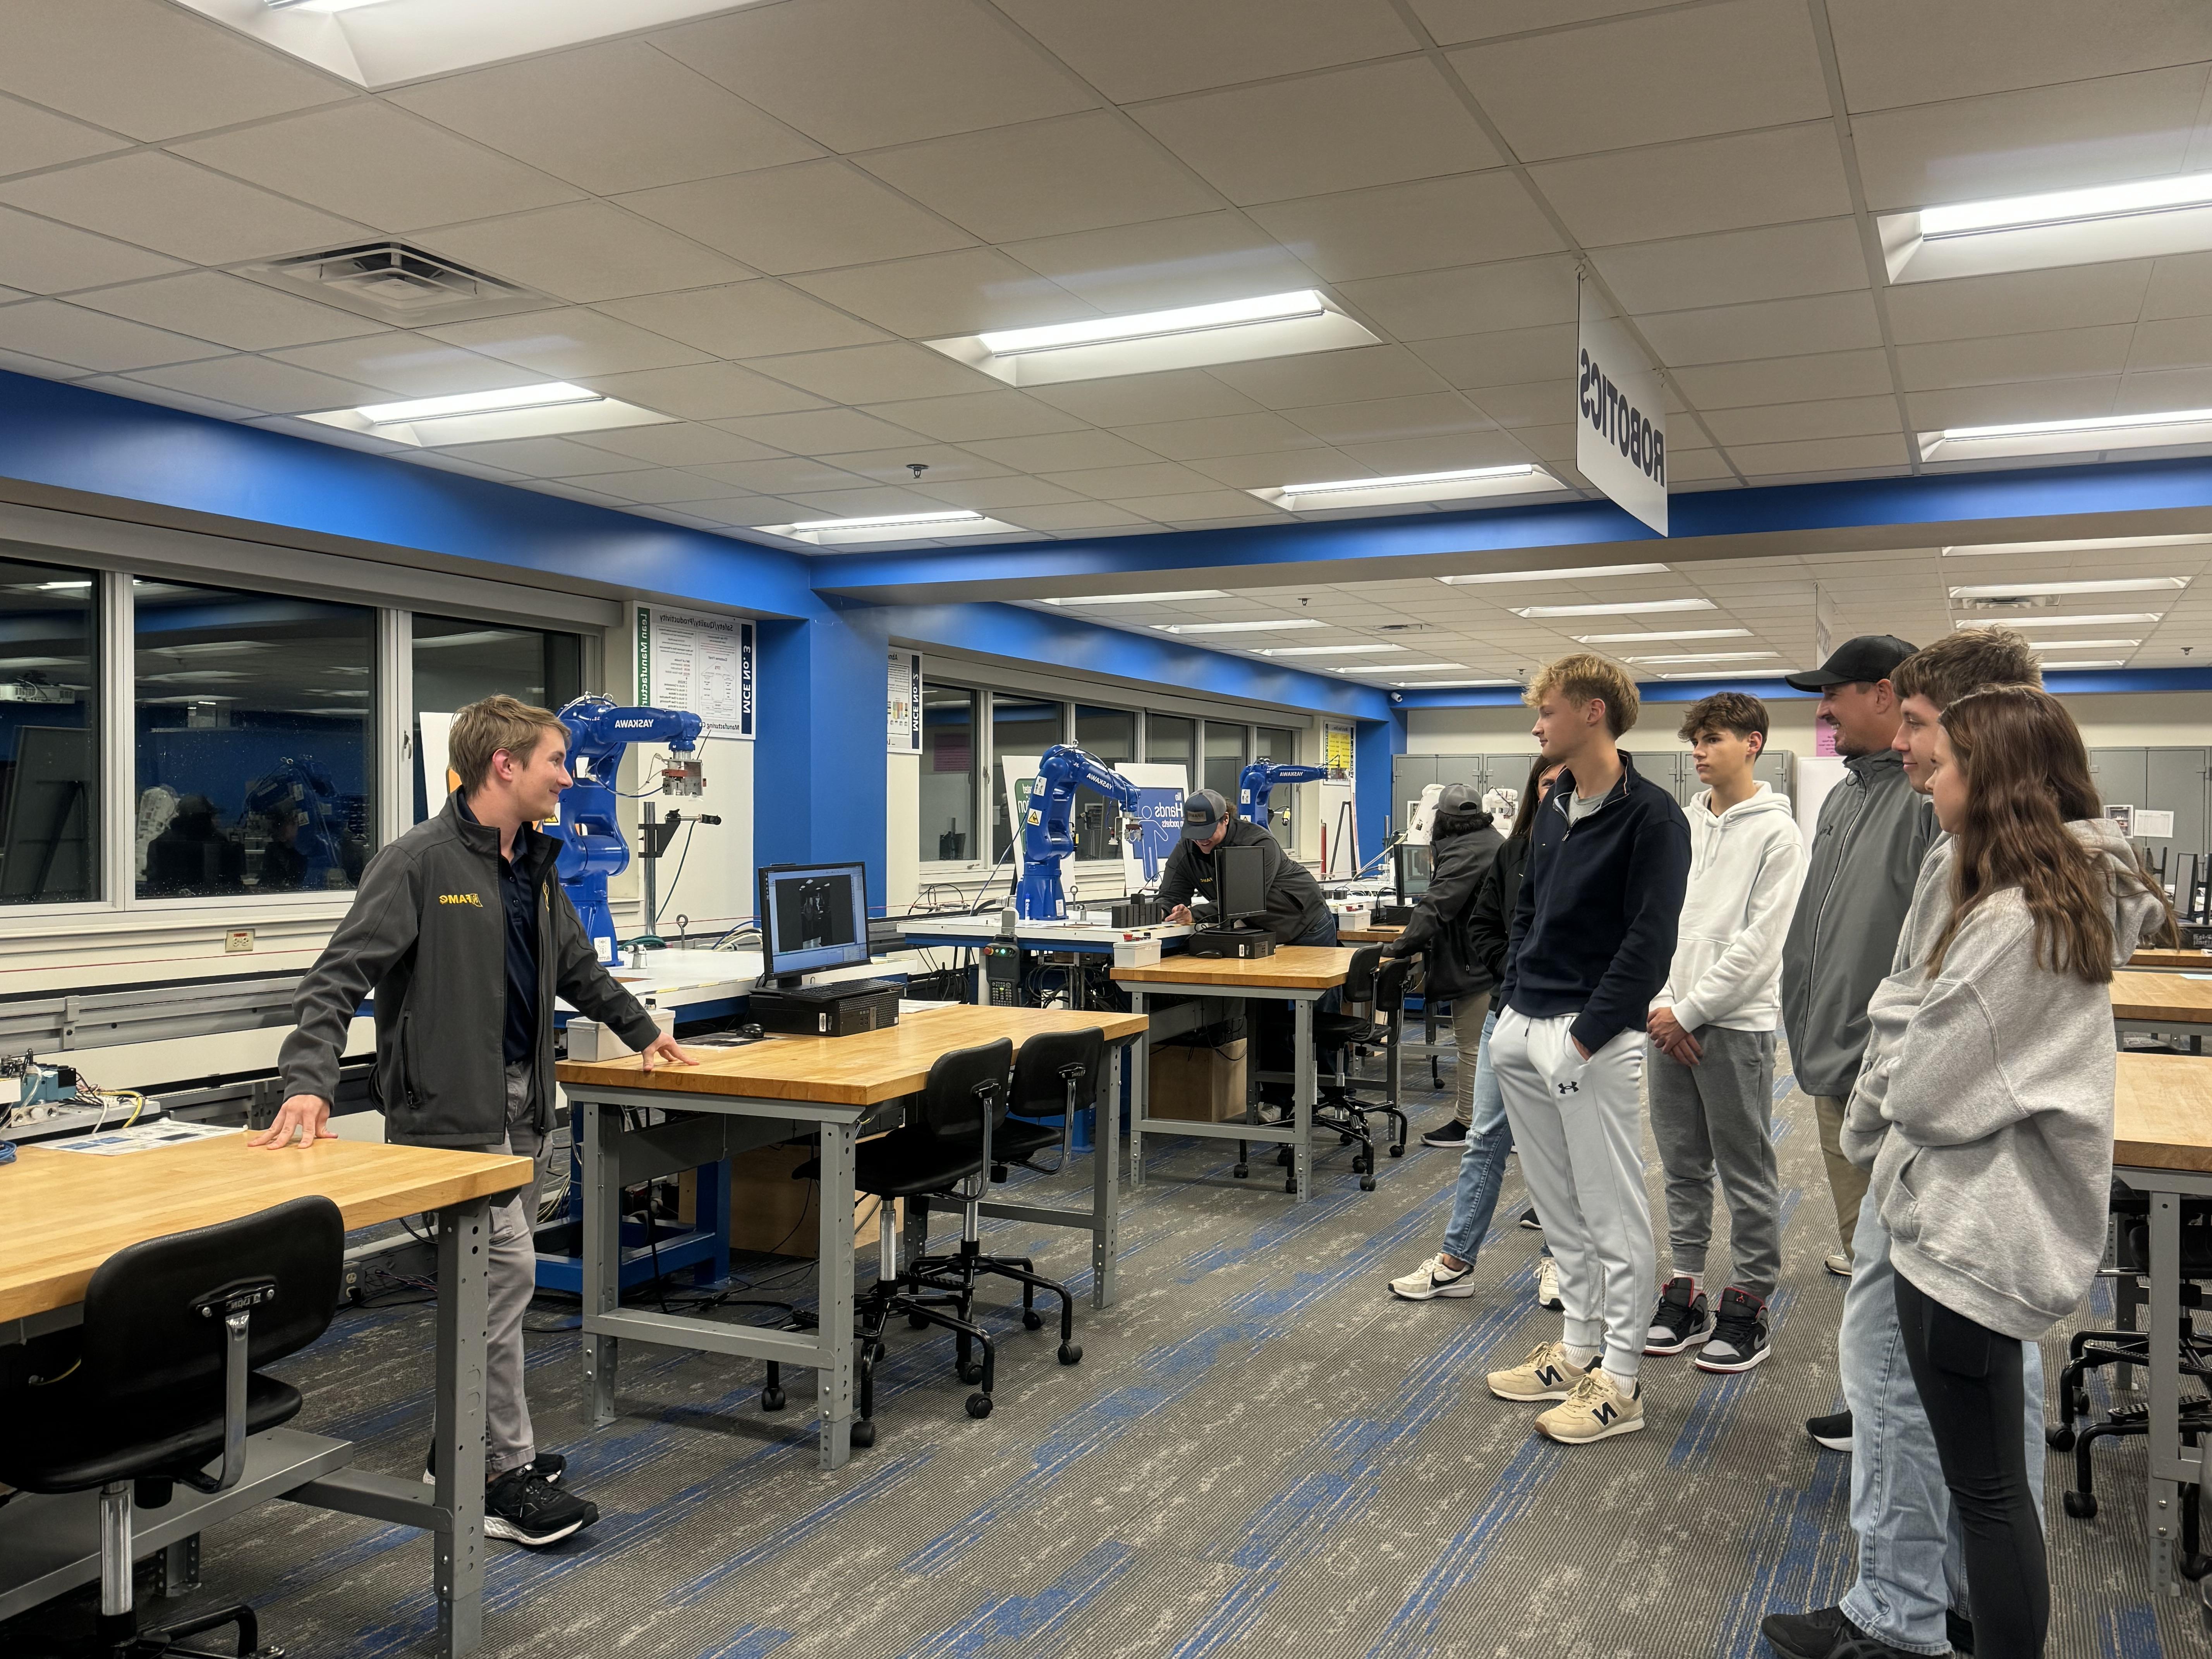
{"label": "light wood top of the workbench holding the lit computer monitor", "polygon": [[[1106,1042],[1139,1035],[1144,1015],[1088,1009],[987,1009],[956,1004],[902,1013],[896,1026],[858,1037],[772,1037],[743,1048],[688,1048],[697,1066],[655,1066],[637,1055],[622,1060],[564,1060],[560,1079],[571,1086],[655,1088],[670,1095],[750,1095],[754,1099],[805,1099],[825,1106],[876,1106],[911,1095],[929,1079],[929,1066],[951,1048],[1011,1037],[1020,1048],[1048,1031],[1097,1026]],[[675,1104],[675,1102],[670,1102]]]}

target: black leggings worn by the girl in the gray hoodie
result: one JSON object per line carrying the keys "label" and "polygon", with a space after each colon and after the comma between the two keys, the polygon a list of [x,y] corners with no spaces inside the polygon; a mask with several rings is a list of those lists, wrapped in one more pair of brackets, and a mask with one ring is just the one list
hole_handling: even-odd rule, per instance
{"label": "black leggings worn by the girl in the gray hoodie", "polygon": [[2051,1568],[2022,1447],[2020,1338],[1951,1312],[1902,1272],[1896,1283],[1905,1360],[1964,1531],[1973,1650],[1978,1659],[2042,1659]]}

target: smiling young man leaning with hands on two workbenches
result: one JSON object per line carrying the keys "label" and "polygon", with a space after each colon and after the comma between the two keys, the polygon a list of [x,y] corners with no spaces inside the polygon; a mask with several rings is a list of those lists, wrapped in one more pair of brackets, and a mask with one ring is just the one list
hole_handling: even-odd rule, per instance
{"label": "smiling young man leaning with hands on two workbenches", "polygon": [[538,1181],[553,1130],[553,998],[622,1033],[650,1068],[690,1064],[599,967],[538,830],[571,776],[568,732],[542,708],[487,697],[453,717],[462,787],[385,847],[292,1004],[279,1064],[285,1104],[252,1146],[330,1139],[330,1097],[361,998],[376,991],[374,1091],[403,1146],[513,1152],[531,1183],[491,1212],[484,1354],[484,1531],[553,1544],[597,1506],[555,1486],[522,1398],[522,1314],[538,1283]]}

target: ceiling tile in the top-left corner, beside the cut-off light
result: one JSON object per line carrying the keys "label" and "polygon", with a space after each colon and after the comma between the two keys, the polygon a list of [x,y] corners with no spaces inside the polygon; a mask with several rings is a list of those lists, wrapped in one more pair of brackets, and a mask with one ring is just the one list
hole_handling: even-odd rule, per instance
{"label": "ceiling tile in the top-left corner, beside the cut-off light", "polygon": [[0,88],[135,139],[257,122],[354,91],[159,0],[9,7]]}

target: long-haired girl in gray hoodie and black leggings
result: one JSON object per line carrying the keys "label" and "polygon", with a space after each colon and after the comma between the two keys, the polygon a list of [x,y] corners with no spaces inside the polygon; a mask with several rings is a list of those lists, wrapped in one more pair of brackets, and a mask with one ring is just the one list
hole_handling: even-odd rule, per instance
{"label": "long-haired girl in gray hoodie and black leggings", "polygon": [[2066,1318],[2097,1272],[2112,1181],[2106,984],[2170,911],[2101,816],[2081,734],[2048,692],[1953,701],[1931,792],[1951,836],[1949,916],[1927,967],[1874,993],[1847,1152],[1878,1144],[1898,1323],[1960,1513],[1975,1652],[2015,1659],[2044,1650],[2051,1619],[2020,1345]]}

